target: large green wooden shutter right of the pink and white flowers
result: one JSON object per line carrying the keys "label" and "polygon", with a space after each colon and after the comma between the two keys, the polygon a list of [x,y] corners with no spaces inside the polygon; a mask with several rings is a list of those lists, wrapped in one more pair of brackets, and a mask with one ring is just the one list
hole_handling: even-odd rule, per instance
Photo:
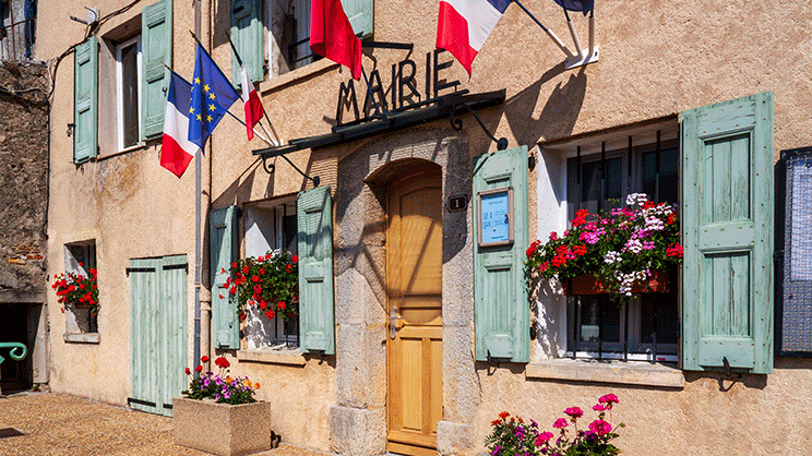
{"label": "large green wooden shutter right of the pink and white flowers", "polygon": [[682,112],[682,368],[773,371],[773,94]]}

